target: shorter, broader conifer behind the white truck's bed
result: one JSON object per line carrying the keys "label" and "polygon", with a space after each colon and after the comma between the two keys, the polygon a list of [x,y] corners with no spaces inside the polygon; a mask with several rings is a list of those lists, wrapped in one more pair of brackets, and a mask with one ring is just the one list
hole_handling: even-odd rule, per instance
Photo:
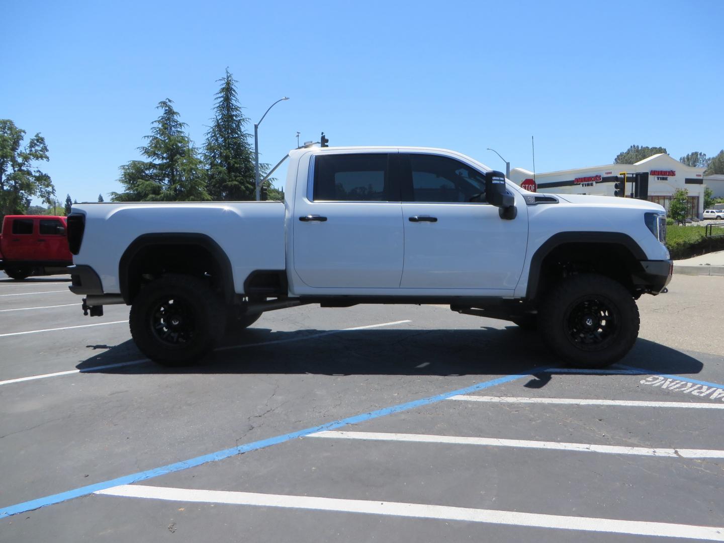
{"label": "shorter, broader conifer behind the white truck's bed", "polygon": [[148,145],[138,148],[147,161],[132,160],[122,166],[119,181],[123,193],[111,193],[113,201],[199,201],[209,200],[206,173],[193,143],[184,131],[170,98],[156,109],[161,116],[146,136]]}

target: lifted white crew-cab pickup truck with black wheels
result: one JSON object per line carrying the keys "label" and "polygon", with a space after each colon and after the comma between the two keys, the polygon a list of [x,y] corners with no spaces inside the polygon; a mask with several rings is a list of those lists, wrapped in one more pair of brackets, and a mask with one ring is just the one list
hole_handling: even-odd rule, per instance
{"label": "lifted white crew-cab pickup truck with black wheels", "polygon": [[130,305],[136,345],[168,365],[200,361],[264,311],[444,303],[602,367],[636,341],[635,300],[671,279],[661,206],[530,193],[454,151],[290,151],[285,195],[74,205],[70,290],[91,316]]}

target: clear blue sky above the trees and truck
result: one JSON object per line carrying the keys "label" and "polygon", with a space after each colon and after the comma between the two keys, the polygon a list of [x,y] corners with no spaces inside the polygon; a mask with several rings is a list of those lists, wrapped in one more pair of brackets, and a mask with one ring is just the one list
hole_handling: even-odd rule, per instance
{"label": "clear blue sky above the trees and truck", "polygon": [[[631,144],[724,148],[724,1],[20,1],[2,7],[0,118],[45,136],[59,198],[121,190],[172,98],[196,145],[239,80],[274,164],[300,140],[451,148],[536,171]],[[282,172],[282,176],[285,171]],[[106,197],[106,200],[108,198]]]}

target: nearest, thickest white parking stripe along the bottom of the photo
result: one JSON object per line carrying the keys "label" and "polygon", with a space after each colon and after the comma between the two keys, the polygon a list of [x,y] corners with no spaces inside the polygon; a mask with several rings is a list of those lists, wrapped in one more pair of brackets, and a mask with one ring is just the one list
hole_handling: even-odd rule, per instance
{"label": "nearest, thickest white parking stripe along the bottom of the photo", "polygon": [[229,492],[225,490],[196,490],[169,487],[148,487],[125,484],[95,494],[119,497],[140,497],[175,502],[224,503],[231,505],[256,505],[286,509],[311,509],[340,513],[367,513],[411,518],[434,518],[442,521],[467,521],[531,528],[557,528],[563,530],[597,531],[613,534],[641,536],[685,537],[724,541],[724,528],[717,526],[692,526],[647,521],[621,521],[614,518],[575,517],[520,513],[495,509],[472,509],[449,505],[422,503],[383,502],[380,500],[344,500],[316,496],[285,494],[259,494],[257,492]]}

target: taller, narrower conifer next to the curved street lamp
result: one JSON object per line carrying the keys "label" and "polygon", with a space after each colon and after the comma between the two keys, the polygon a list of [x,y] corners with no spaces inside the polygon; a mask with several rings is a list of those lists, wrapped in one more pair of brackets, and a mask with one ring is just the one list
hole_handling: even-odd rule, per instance
{"label": "taller, narrower conifer next to the curved street lamp", "polygon": [[214,101],[214,119],[206,132],[204,158],[209,179],[209,195],[214,200],[253,200],[254,156],[245,117],[236,91],[237,81],[230,74],[217,80],[221,88]]}

